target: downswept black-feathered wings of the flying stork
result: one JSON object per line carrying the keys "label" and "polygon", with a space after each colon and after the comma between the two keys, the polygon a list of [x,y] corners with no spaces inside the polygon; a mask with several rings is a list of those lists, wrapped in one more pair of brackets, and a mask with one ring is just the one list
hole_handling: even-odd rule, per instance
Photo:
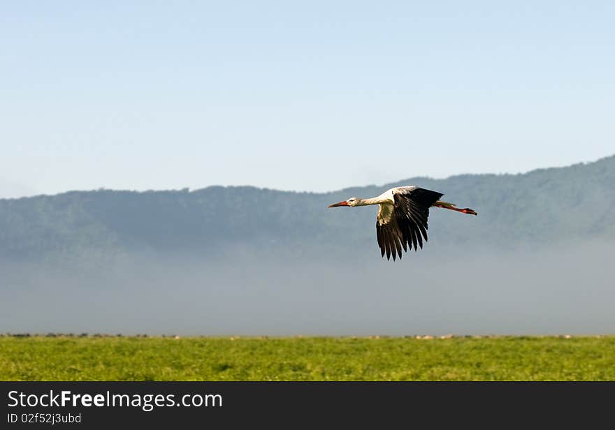
{"label": "downswept black-feathered wings of the flying stork", "polygon": [[442,193],[414,186],[393,188],[393,204],[380,205],[376,220],[376,237],[380,253],[389,260],[399,255],[402,248],[409,246],[414,251],[423,248],[427,241],[427,218],[429,208],[442,197]]}

